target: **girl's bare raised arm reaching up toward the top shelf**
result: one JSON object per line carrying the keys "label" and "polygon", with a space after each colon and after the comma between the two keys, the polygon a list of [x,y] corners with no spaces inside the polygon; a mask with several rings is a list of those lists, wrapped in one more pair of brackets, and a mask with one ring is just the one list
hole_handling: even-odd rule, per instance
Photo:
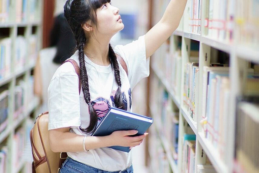
{"label": "girl's bare raised arm reaching up toward the top shelf", "polygon": [[177,29],[187,0],[171,0],[162,19],[145,35],[146,57],[150,57]]}

